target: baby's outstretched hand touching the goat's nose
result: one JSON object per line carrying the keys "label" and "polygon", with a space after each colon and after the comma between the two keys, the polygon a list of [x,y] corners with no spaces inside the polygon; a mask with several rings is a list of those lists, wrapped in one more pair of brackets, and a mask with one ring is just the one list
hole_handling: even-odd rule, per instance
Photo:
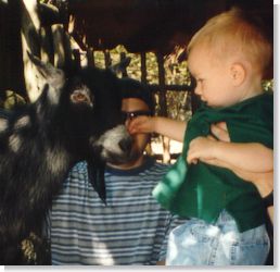
{"label": "baby's outstretched hand touching the goat's nose", "polygon": [[128,132],[130,134],[137,133],[153,133],[155,131],[155,118],[153,116],[138,116],[130,121]]}

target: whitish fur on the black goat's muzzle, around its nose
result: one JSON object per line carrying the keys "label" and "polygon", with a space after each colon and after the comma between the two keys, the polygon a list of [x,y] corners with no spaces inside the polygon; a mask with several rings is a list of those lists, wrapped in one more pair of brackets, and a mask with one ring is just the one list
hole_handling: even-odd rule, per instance
{"label": "whitish fur on the black goat's muzzle, around its nose", "polygon": [[97,141],[97,146],[102,146],[101,156],[106,157],[106,152],[122,156],[124,151],[119,147],[122,139],[130,137],[125,125],[118,125],[105,132]]}

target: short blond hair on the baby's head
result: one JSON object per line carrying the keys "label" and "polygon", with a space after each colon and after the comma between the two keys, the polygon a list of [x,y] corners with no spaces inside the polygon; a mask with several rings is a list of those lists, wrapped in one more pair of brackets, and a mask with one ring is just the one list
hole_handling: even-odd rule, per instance
{"label": "short blond hair on the baby's head", "polygon": [[244,12],[233,8],[208,20],[192,37],[187,52],[203,45],[216,58],[239,54],[263,75],[272,57],[272,46],[265,35]]}

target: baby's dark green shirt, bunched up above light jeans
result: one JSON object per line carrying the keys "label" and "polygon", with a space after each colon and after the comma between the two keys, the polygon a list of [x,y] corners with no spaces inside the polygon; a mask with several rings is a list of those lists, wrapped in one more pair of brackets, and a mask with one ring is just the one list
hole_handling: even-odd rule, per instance
{"label": "baby's dark green shirt, bunched up above light jeans", "polygon": [[181,217],[215,223],[222,209],[240,232],[265,222],[265,207],[257,188],[225,168],[203,162],[188,165],[189,144],[211,134],[211,124],[225,121],[232,143],[260,143],[273,148],[273,96],[264,92],[238,104],[212,109],[203,104],[188,123],[183,151],[154,188],[157,201]]}

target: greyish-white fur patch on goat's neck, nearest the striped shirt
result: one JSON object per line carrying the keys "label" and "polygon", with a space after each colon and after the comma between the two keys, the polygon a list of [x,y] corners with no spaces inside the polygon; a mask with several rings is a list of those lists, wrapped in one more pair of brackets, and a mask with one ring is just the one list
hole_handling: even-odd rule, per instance
{"label": "greyish-white fur patch on goat's neck, nearest the striped shirt", "polygon": [[65,165],[67,165],[67,156],[60,148],[48,149],[46,154],[47,168],[50,174],[58,174],[64,171]]}

